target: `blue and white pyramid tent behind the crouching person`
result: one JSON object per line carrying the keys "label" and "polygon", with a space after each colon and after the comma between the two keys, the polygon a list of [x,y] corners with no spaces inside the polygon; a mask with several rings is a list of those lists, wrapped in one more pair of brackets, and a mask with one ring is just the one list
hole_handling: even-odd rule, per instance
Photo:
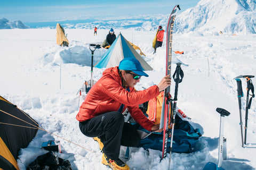
{"label": "blue and white pyramid tent behind the crouching person", "polygon": [[141,57],[141,55],[130,45],[121,33],[117,36],[113,44],[105,55],[94,65],[97,68],[109,68],[118,66],[124,58],[136,58],[145,71],[153,70],[152,67]]}

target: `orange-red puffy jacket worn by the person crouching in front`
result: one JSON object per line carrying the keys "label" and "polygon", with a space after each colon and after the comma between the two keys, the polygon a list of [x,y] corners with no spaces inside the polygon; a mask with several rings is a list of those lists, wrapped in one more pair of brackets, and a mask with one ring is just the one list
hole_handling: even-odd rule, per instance
{"label": "orange-red puffy jacket worn by the person crouching in front", "polygon": [[159,95],[159,90],[156,85],[146,90],[136,91],[134,88],[130,88],[130,92],[127,91],[122,87],[118,66],[111,67],[103,72],[102,77],[90,89],[80,106],[76,119],[83,122],[100,114],[118,111],[119,107],[124,104],[122,112],[127,108],[137,123],[151,131],[154,123],[142,113],[139,104],[145,103],[157,95]]}

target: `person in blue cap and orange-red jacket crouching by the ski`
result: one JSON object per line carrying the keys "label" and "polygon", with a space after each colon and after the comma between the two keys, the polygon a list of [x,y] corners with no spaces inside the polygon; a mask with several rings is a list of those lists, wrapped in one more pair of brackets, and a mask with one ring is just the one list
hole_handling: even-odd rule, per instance
{"label": "person in blue cap and orange-red jacket crouching by the ski", "polygon": [[119,66],[106,69],[86,95],[76,116],[81,132],[99,142],[103,152],[101,163],[112,169],[130,169],[119,159],[121,145],[135,147],[140,143],[137,129],[124,122],[122,113],[126,108],[146,130],[159,129],[159,124],[154,125],[142,113],[139,104],[155,98],[159,91],[170,86],[170,75],[165,76],[158,85],[137,91],[134,86],[141,76],[148,77],[148,74],[143,72],[140,62],[135,58],[124,58]]}

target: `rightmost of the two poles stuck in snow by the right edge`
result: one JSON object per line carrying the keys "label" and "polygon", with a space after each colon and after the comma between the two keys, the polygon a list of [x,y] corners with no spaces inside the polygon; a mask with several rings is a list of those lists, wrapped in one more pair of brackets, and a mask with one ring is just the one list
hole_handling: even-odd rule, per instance
{"label": "rightmost of the two poles stuck in snow by the right edge", "polygon": [[[246,96],[246,109],[245,109],[245,127],[244,127],[244,144],[246,145],[246,137],[247,137],[247,122],[248,122],[248,110],[251,107],[252,104],[252,98],[255,97],[254,95],[254,87],[252,84],[252,80],[250,78],[253,78],[254,75],[247,75],[246,78],[246,82],[247,82],[247,96]],[[249,96],[250,96],[250,90],[252,91],[252,97],[249,100]]]}

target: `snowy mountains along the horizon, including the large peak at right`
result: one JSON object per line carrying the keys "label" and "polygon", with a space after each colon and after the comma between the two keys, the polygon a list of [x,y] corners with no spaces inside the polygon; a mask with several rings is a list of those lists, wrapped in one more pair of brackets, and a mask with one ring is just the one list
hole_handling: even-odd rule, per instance
{"label": "snowy mountains along the horizon, including the large peak at right", "polygon": [[[181,6],[182,8],[182,6]],[[86,16],[85,19],[66,21],[47,21],[26,23],[30,28],[52,28],[60,23],[69,29],[129,29],[137,31],[155,31],[158,25],[166,29],[170,14],[145,14],[130,16]],[[0,19],[0,29],[28,28],[21,21],[10,22]],[[174,22],[177,33],[256,33],[255,0],[201,0],[195,7],[179,13]]]}

